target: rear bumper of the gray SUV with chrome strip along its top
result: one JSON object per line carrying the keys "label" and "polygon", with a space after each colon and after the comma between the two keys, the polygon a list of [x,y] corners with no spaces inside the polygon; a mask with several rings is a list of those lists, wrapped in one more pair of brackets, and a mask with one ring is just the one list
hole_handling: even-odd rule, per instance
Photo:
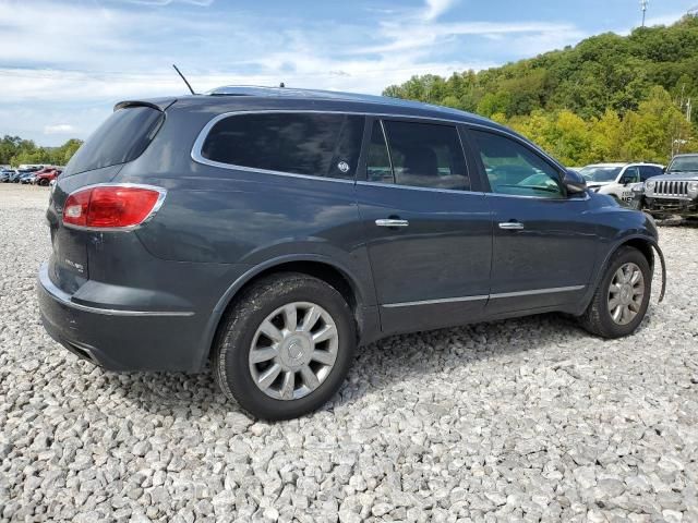
{"label": "rear bumper of the gray SUV with chrome strip along its top", "polygon": [[202,325],[194,313],[127,311],[75,303],[38,275],[41,321],[51,338],[108,370],[198,370]]}

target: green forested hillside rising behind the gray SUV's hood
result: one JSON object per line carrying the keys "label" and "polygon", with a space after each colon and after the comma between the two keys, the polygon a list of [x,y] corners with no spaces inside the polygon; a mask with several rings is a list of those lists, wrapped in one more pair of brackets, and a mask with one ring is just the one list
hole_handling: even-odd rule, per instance
{"label": "green forested hillside rising behind the gray SUV's hood", "polygon": [[492,118],[570,166],[666,162],[677,149],[698,150],[698,17],[594,36],[478,73],[414,76],[384,95]]}

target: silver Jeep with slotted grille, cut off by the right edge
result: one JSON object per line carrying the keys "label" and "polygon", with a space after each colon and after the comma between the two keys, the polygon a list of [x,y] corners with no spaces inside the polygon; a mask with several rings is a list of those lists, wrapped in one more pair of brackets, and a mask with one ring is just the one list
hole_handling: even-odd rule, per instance
{"label": "silver Jeep with slotted grille, cut off by the right edge", "polygon": [[645,182],[643,207],[657,218],[698,217],[698,154],[676,155],[665,174]]}

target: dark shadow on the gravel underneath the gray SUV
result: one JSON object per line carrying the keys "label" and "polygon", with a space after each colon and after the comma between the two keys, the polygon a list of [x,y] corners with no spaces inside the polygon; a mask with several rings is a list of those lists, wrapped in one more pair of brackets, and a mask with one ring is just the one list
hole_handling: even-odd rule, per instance
{"label": "dark shadow on the gravel underneath the gray SUV", "polygon": [[[348,381],[321,410],[333,411],[410,376],[589,337],[573,318],[561,314],[393,336],[357,350]],[[101,372],[101,379],[112,394],[153,414],[225,417],[243,412],[224,397],[209,368],[200,374]],[[361,387],[352,385],[359,381]]]}

